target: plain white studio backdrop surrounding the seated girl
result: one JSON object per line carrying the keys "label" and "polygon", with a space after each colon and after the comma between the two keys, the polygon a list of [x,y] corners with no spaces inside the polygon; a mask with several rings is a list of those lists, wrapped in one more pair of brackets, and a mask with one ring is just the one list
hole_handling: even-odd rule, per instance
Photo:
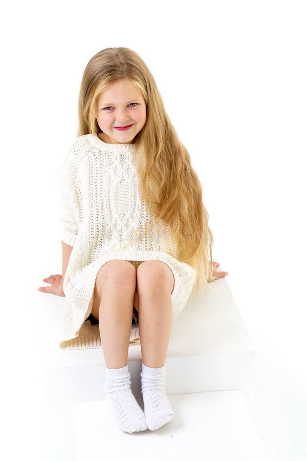
{"label": "plain white studio backdrop surrounding the seated girl", "polygon": [[133,49],[151,70],[202,182],[213,259],[229,272],[256,373],[287,380],[293,427],[295,409],[307,409],[304,6],[89,0],[15,2],[3,11],[6,459],[17,459],[12,450],[41,459],[29,300],[46,296],[37,291],[42,279],[61,273],[55,171],[77,134],[83,70],[107,47]]}

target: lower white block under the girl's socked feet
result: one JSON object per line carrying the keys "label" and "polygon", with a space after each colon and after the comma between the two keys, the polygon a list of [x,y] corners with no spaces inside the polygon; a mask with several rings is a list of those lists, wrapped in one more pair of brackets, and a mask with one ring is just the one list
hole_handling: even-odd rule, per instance
{"label": "lower white block under the girl's socked feet", "polygon": [[117,428],[105,401],[73,404],[75,461],[267,459],[240,391],[171,395],[169,400],[170,423],[132,434]]}

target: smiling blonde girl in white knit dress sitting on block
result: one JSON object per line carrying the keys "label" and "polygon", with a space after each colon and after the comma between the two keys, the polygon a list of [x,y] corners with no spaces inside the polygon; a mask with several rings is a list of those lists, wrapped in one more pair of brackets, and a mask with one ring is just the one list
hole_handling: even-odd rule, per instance
{"label": "smiling blonde girl in white knit dress sitting on block", "polygon": [[[121,429],[156,430],[173,417],[165,393],[172,320],[195,290],[227,273],[212,261],[190,156],[134,51],[107,48],[87,64],[78,137],[58,173],[62,274],[38,289],[66,297],[60,346],[78,336],[87,318],[99,322],[107,401]],[[144,412],[127,366],[133,318]]]}

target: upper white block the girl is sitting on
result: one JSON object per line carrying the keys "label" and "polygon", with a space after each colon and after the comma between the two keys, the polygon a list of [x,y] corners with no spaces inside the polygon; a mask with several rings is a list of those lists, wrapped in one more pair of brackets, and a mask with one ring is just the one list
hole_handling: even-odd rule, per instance
{"label": "upper white block the girl is sitting on", "polygon": [[[42,367],[59,378],[68,371],[78,381],[87,380],[88,392],[99,393],[104,386],[102,348],[61,350],[57,342],[60,310],[64,298],[44,299],[43,319],[49,328],[44,331]],[[42,309],[43,310],[43,309]],[[242,321],[227,280],[209,284],[205,294],[191,297],[180,316],[173,321],[167,352],[167,393],[179,394],[214,390],[241,389],[253,386],[254,348]],[[128,365],[136,396],[140,396],[140,344],[129,346]],[[73,367],[74,370],[67,368]],[[56,370],[58,368],[58,370]],[[61,369],[63,368],[63,369]],[[47,371],[48,373],[48,371]],[[54,385],[55,383],[53,383]],[[97,388],[95,388],[97,384]],[[71,383],[68,382],[68,386]],[[84,395],[85,397],[85,395]]]}

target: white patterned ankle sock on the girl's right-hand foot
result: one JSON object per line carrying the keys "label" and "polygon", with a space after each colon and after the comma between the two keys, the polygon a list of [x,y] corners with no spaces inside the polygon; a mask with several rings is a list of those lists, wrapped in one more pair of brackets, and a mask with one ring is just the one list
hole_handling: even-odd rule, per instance
{"label": "white patterned ankle sock on the girl's right-hand foot", "polygon": [[142,362],[141,384],[146,424],[148,429],[155,431],[173,418],[165,393],[165,365],[161,368],[150,368]]}

